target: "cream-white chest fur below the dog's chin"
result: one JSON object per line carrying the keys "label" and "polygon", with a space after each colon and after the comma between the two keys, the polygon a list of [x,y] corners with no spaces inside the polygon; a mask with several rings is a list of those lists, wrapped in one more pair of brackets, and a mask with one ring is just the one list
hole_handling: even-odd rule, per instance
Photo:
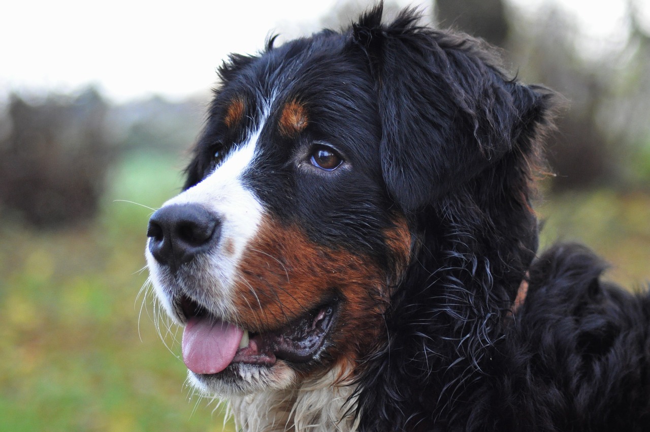
{"label": "cream-white chest fur below the dog's chin", "polygon": [[[354,432],[354,386],[337,383],[332,370],[298,388],[229,399],[238,431],[245,432]],[[350,409],[352,407],[352,409]]]}

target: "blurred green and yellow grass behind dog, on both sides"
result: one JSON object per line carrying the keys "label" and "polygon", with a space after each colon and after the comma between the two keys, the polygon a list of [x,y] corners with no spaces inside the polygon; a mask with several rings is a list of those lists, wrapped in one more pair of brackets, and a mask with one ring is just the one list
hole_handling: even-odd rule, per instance
{"label": "blurred green and yellow grass behind dog, on both sides", "polygon": [[[82,228],[1,224],[1,431],[224,429],[214,401],[190,396],[183,385],[179,344],[166,338],[172,354],[161,342],[151,299],[140,313],[146,206],[177,193],[179,160],[153,153],[123,159],[101,215]],[[650,277],[649,195],[566,194],[538,211],[547,220],[542,245],[557,237],[586,241],[614,264],[615,280],[631,288]]]}

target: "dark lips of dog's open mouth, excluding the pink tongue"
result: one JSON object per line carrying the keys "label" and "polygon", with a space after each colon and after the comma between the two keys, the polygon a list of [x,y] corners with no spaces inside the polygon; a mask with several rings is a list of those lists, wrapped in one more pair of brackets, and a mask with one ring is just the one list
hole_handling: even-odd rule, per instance
{"label": "dark lips of dog's open mouth, excluding the pink tongue", "polygon": [[[236,364],[273,366],[278,359],[291,363],[306,363],[320,353],[335,322],[338,298],[321,304],[273,330],[248,331],[244,329],[245,346],[237,349],[228,367]],[[181,299],[180,309],[187,321],[190,319],[219,320],[207,309],[189,297]],[[216,374],[211,374],[216,375]]]}

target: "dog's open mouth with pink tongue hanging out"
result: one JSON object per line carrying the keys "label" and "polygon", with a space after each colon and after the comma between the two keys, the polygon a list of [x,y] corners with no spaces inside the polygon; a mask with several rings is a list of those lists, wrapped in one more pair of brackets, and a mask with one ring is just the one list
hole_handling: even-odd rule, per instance
{"label": "dog's open mouth with pink tongue hanging out", "polygon": [[318,356],[333,327],[336,301],[318,306],[274,331],[251,332],[210,314],[185,298],[187,325],[183,361],[200,375],[213,375],[231,364],[272,366],[278,359],[306,363]]}

